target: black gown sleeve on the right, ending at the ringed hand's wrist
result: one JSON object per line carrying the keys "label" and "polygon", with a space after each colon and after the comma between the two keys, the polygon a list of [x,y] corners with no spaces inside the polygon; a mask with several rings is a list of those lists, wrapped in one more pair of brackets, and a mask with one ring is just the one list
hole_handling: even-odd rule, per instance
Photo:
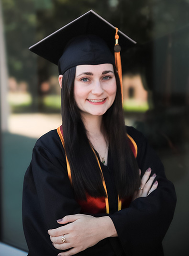
{"label": "black gown sleeve on the right, ending at the ringed hand's wrist", "polygon": [[138,166],[142,175],[148,167],[152,168],[152,174],[157,175],[158,188],[148,197],[137,198],[129,208],[117,211],[110,217],[126,255],[162,256],[162,240],[172,221],[176,205],[175,189],[167,180],[163,164],[145,137],[139,132],[134,134],[135,132],[133,138],[138,146]]}

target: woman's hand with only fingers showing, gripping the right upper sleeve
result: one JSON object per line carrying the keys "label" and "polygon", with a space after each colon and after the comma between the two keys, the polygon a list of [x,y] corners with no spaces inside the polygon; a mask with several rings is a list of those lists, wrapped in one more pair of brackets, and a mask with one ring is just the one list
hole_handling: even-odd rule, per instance
{"label": "woman's hand with only fingers showing, gripping the right upper sleeve", "polygon": [[[150,193],[152,193],[157,188],[158,181],[156,180],[155,183],[153,184],[154,179],[156,178],[156,173],[154,173],[150,177],[151,172],[152,172],[151,168],[148,168],[145,171],[145,174],[143,175],[143,177],[141,179],[140,188],[137,191],[135,191],[132,200],[135,200],[139,197],[147,197],[147,196],[149,196]],[[141,175],[141,170],[140,169],[139,169],[139,173]],[[152,184],[153,184],[153,186],[152,186]]]}

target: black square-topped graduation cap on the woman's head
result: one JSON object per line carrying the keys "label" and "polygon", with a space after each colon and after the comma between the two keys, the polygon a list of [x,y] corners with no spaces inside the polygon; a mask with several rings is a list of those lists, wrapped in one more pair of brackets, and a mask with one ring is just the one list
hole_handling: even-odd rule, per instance
{"label": "black square-topped graduation cap on the woman's head", "polygon": [[[78,65],[121,63],[119,45],[122,49],[128,49],[135,44],[135,41],[90,10],[32,45],[29,50],[58,65],[59,73],[64,74],[70,67]],[[116,65],[117,69],[120,68],[118,66],[121,64]]]}

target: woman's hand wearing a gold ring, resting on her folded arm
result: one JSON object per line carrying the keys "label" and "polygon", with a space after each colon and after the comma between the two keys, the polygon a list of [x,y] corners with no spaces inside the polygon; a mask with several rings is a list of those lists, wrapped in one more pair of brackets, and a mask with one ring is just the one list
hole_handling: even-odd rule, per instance
{"label": "woman's hand wearing a gold ring, resting on her folded arm", "polygon": [[75,255],[96,245],[106,237],[117,236],[114,224],[108,216],[96,218],[90,215],[75,214],[65,216],[57,222],[64,226],[48,230],[50,239],[56,249],[70,249],[59,253],[58,256]]}

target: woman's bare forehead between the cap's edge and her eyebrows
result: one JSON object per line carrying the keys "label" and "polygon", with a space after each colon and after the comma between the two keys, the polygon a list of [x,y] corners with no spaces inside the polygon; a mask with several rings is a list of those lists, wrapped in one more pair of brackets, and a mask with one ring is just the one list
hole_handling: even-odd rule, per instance
{"label": "woman's bare forehead between the cap's edge and her eyebrows", "polygon": [[103,71],[113,71],[113,65],[110,63],[99,64],[99,65],[78,65],[76,67],[76,75],[85,72],[91,73],[102,73]]}

